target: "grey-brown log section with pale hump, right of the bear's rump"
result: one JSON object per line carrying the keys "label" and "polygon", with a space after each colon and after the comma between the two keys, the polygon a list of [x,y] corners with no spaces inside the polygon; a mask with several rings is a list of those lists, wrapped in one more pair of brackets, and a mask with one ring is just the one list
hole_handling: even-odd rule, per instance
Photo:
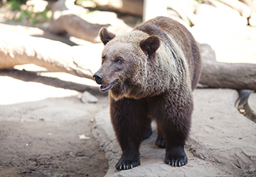
{"label": "grey-brown log section with pale hump, right of the bear's rump", "polygon": [[256,64],[217,62],[210,45],[201,44],[200,49],[203,62],[200,84],[256,91]]}

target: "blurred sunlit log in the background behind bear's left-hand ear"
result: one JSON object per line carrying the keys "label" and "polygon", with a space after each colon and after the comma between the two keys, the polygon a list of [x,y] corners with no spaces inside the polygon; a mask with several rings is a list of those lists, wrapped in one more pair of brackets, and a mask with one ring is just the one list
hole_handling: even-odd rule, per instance
{"label": "blurred sunlit log in the background behind bear's left-hand ear", "polygon": [[75,0],[58,0],[51,8],[53,16],[50,20],[49,30],[52,33],[74,35],[82,40],[99,43],[98,36],[100,28],[106,27],[113,33],[124,33],[131,30],[124,23],[119,25],[92,24],[85,21],[87,11],[81,6],[75,5]]}

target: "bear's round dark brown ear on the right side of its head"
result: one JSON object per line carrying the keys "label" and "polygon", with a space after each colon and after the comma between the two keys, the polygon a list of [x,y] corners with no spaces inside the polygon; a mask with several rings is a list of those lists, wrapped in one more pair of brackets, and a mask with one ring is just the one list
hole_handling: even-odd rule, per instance
{"label": "bear's round dark brown ear on the right side of its head", "polygon": [[151,35],[149,38],[142,40],[139,46],[149,56],[153,55],[160,47],[161,40],[157,35]]}

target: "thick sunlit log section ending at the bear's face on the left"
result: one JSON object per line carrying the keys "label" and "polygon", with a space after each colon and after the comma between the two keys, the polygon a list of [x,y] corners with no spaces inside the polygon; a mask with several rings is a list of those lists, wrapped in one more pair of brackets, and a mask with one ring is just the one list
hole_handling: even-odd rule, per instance
{"label": "thick sunlit log section ending at the bear's face on the left", "polygon": [[102,44],[70,47],[63,42],[14,33],[2,33],[0,41],[0,69],[36,64],[50,71],[93,79],[101,63]]}

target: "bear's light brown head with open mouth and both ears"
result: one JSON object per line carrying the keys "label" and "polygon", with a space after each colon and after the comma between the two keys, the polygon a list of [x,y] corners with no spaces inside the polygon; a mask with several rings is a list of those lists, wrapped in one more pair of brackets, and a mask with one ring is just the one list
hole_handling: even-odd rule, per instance
{"label": "bear's light brown head with open mouth and both ears", "polygon": [[99,35],[105,45],[102,66],[94,74],[100,91],[110,90],[115,100],[139,98],[146,89],[148,66],[155,62],[160,38],[139,30],[116,36],[107,28],[102,28]]}

